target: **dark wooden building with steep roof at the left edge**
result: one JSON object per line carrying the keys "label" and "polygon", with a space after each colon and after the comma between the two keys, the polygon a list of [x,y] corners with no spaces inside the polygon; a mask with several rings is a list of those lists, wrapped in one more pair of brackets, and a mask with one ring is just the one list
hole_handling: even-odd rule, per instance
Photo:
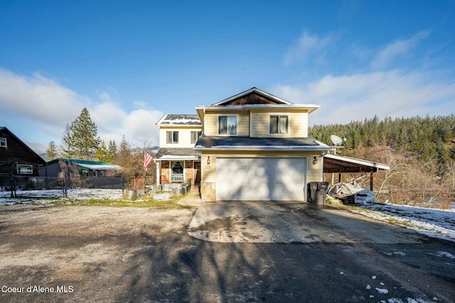
{"label": "dark wooden building with steep roof at the left edge", "polygon": [[0,127],[0,175],[36,177],[45,160],[11,133]]}

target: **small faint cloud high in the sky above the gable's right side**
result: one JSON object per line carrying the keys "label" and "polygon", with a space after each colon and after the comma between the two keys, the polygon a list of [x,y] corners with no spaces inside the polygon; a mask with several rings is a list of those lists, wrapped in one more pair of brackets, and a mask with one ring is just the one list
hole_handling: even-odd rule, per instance
{"label": "small faint cloud high in the sky above the gable's right side", "polygon": [[301,36],[294,41],[284,55],[284,64],[290,65],[296,61],[306,61],[311,55],[319,57],[320,53],[328,43],[331,42],[331,37],[326,36],[319,38],[317,35],[311,35],[304,30]]}

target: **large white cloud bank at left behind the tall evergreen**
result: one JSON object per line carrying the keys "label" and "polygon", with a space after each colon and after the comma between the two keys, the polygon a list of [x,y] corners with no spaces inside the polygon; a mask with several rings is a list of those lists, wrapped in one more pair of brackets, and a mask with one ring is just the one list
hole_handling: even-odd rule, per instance
{"label": "large white cloud bank at left behind the tall evergreen", "polygon": [[0,104],[0,126],[9,128],[37,153],[44,153],[50,141],[60,144],[66,124],[84,107],[106,143],[113,140],[119,146],[122,136],[132,145],[144,139],[152,145],[159,143],[154,124],[163,116],[161,111],[137,101],[134,104],[141,109],[127,112],[108,92],[92,100],[39,74],[27,77],[0,69]]}

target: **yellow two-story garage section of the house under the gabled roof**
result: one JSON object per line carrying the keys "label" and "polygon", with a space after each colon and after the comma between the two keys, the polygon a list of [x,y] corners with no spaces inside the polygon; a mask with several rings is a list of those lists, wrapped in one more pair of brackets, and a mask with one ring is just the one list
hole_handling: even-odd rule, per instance
{"label": "yellow two-story garage section of the house under the gabled roof", "polygon": [[202,201],[305,201],[306,184],[322,180],[321,156],[331,150],[308,138],[308,115],[318,108],[255,87],[196,107]]}

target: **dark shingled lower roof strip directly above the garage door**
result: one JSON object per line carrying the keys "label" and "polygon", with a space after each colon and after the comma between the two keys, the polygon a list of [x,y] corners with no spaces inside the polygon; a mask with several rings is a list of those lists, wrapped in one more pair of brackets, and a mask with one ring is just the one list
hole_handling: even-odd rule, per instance
{"label": "dark shingled lower roof strip directly above the garage door", "polygon": [[331,150],[313,138],[201,136],[195,150]]}

